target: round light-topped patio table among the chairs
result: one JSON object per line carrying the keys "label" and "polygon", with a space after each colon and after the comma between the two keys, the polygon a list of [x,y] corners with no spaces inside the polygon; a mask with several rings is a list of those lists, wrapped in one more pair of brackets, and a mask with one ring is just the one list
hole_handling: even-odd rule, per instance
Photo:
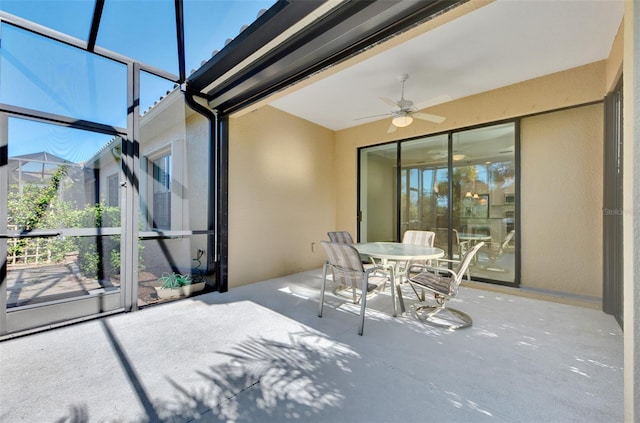
{"label": "round light-topped patio table among the chairs", "polygon": [[[365,242],[353,244],[358,252],[375,261],[380,260],[380,264],[386,268],[391,268],[392,275],[397,275],[398,262],[409,260],[432,260],[444,257],[444,250],[435,247],[426,247],[423,245],[404,244],[401,242]],[[389,261],[392,261],[391,263]],[[397,315],[396,311],[396,291],[398,293],[398,301],[400,302],[400,313],[405,312],[404,300],[400,286],[396,284],[396,278],[391,278],[391,302],[393,303],[393,316]]]}

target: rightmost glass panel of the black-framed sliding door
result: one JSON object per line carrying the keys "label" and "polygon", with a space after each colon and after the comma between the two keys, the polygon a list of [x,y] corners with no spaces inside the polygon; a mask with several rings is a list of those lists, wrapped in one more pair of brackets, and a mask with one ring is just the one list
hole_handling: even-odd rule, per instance
{"label": "rightmost glass panel of the black-framed sliding door", "polygon": [[452,220],[458,254],[484,241],[471,275],[513,283],[515,125],[454,133],[453,151]]}

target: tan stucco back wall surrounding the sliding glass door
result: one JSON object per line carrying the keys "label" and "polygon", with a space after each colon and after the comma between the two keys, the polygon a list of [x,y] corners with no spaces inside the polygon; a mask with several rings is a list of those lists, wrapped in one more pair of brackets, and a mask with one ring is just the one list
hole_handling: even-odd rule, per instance
{"label": "tan stucco back wall surrounding the sliding glass door", "polygon": [[[606,92],[606,71],[605,61],[596,62],[429,109],[430,113],[447,117],[441,125],[416,121],[389,135],[386,133],[389,122],[379,121],[338,131],[335,163],[336,179],[340,183],[336,187],[336,229],[349,230],[354,235],[357,233],[358,147],[599,102]],[[523,286],[595,297],[602,294],[600,248],[585,255],[575,254],[577,246],[585,245],[584,234],[590,234],[589,244],[597,239],[596,244],[599,245],[602,237],[602,120],[602,105],[598,104],[540,114],[522,122]],[[584,125],[578,128],[579,122]],[[549,133],[547,129],[555,133]],[[564,137],[560,139],[562,134]],[[553,179],[549,170],[555,168],[549,168],[547,163],[564,166],[563,173],[570,173],[576,182],[561,183],[561,180]],[[573,167],[571,172],[567,170],[571,169],[568,164]],[[553,183],[549,183],[549,179]],[[545,184],[540,182],[543,180],[546,180]],[[539,193],[538,186],[544,186],[549,192]],[[545,261],[539,248],[543,245],[548,248],[547,244],[552,241],[548,236],[549,222],[538,218],[537,213],[543,208],[547,210],[558,206],[549,204],[546,198],[561,201],[563,207],[571,209],[568,213],[573,213],[570,215],[574,227],[572,233],[566,234],[554,248],[555,257],[546,256],[553,259],[554,264],[550,267],[554,270],[562,267],[563,274],[580,275],[579,279],[574,277],[572,283],[559,279],[557,273],[548,270],[549,266],[546,270],[542,266]],[[585,210],[585,205],[588,210]],[[559,214],[558,217],[552,225],[556,229],[566,224],[569,215]]]}

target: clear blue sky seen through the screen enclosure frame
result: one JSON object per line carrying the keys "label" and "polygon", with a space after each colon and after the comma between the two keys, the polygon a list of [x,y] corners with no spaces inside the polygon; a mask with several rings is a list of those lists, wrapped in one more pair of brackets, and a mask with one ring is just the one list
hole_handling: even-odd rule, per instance
{"label": "clear blue sky seen through the screen enclosure frame", "polygon": [[[0,0],[0,10],[86,41],[94,3]],[[184,0],[187,76],[274,3],[275,0]],[[0,28],[0,36],[0,103],[114,127],[126,126],[125,66],[6,23]],[[106,0],[96,45],[178,75],[174,0]],[[141,112],[173,85],[171,81],[142,75]],[[105,137],[107,141],[111,138],[16,118],[10,120],[9,131],[10,157],[47,149],[74,162],[88,159],[104,145]]]}

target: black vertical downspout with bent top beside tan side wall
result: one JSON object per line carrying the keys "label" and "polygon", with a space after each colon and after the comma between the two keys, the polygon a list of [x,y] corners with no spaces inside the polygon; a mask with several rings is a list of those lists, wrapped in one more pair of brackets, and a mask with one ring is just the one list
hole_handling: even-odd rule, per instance
{"label": "black vertical downspout with bent top beside tan side wall", "polygon": [[[207,214],[207,229],[214,231],[213,236],[207,235],[207,250],[214,254],[207,254],[207,273],[212,270],[216,275],[215,289],[219,292],[228,290],[227,267],[228,254],[228,142],[221,143],[221,130],[218,113],[198,103],[194,93],[184,90],[185,100],[189,107],[204,116],[209,121],[209,184],[208,210],[215,213]],[[228,141],[228,132],[225,131]],[[213,166],[211,165],[213,164]]]}

